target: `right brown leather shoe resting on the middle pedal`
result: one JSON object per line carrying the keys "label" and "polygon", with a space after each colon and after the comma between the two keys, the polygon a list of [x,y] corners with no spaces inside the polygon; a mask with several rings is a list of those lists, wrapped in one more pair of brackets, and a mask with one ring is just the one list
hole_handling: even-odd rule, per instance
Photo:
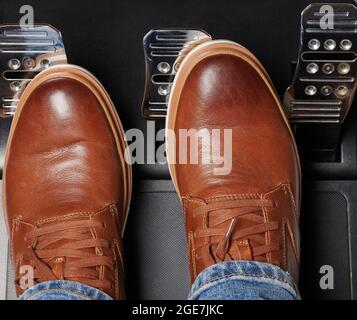
{"label": "right brown leather shoe resting on the middle pedal", "polygon": [[[206,42],[190,52],[172,87],[167,128],[192,281],[203,269],[230,260],[278,265],[298,281],[299,158],[279,98],[257,59],[229,41]],[[211,135],[212,129],[232,130],[229,174],[217,175],[214,170],[222,165],[212,161],[175,164],[184,143],[178,139],[180,129],[205,128]],[[202,141],[201,159],[218,158]],[[188,154],[190,145],[184,144]]]}

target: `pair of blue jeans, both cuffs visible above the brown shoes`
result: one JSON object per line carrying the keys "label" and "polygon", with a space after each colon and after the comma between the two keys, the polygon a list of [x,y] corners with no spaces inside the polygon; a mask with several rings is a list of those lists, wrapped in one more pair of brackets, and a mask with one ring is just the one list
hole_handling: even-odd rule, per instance
{"label": "pair of blue jeans, both cuffs visible above the brown shoes", "polygon": [[[291,276],[267,263],[230,261],[213,265],[197,277],[190,300],[296,300]],[[39,283],[20,300],[111,300],[104,292],[79,282],[56,280]]]}

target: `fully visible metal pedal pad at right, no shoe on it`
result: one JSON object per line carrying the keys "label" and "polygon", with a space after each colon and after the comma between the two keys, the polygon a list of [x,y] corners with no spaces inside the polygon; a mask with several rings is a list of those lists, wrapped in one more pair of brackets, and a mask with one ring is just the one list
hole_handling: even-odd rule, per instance
{"label": "fully visible metal pedal pad at right, no shoe on it", "polygon": [[[357,8],[326,4],[333,9],[326,16],[323,5],[302,12],[298,62],[284,96],[292,124],[341,124],[356,91]],[[332,18],[333,28],[322,28],[323,18]]]}

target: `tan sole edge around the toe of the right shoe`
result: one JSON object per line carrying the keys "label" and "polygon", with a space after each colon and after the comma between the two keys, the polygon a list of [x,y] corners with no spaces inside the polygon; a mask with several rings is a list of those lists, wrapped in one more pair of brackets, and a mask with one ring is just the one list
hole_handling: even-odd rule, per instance
{"label": "tan sole edge around the toe of the right shoe", "polygon": [[[204,42],[197,47],[195,47],[191,52],[187,54],[187,56],[184,58],[182,61],[180,68],[178,69],[178,72],[175,76],[172,88],[171,88],[171,94],[169,97],[168,101],[168,109],[167,109],[167,117],[166,117],[166,130],[174,130],[175,128],[175,120],[176,120],[176,114],[177,114],[177,109],[178,109],[178,104],[181,96],[181,92],[183,89],[183,86],[186,82],[186,79],[190,75],[191,71],[193,68],[201,62],[203,59],[207,57],[212,57],[215,55],[233,55],[236,57],[239,57],[243,59],[244,61],[248,62],[261,76],[261,78],[264,80],[265,84],[269,88],[271,94],[273,95],[276,104],[280,110],[281,116],[283,117],[286,126],[290,132],[294,148],[295,148],[295,156],[296,160],[298,163],[299,167],[299,182],[300,182],[300,190],[299,190],[299,199],[298,199],[298,204],[300,208],[300,199],[301,199],[301,166],[300,166],[300,158],[299,158],[299,153],[298,149],[296,146],[295,142],[295,137],[293,135],[293,132],[291,130],[289,121],[285,115],[285,112],[283,110],[282,104],[280,102],[280,99],[278,97],[278,94],[275,91],[275,88],[272,84],[272,81],[265,70],[265,68],[262,66],[262,64],[258,61],[258,59],[246,48],[243,46],[232,42],[232,41],[227,41],[227,40],[212,40],[212,41],[207,41]],[[166,132],[166,137],[168,137],[168,133]],[[175,165],[173,164],[175,159],[175,152],[174,150],[175,144],[170,144],[169,142],[166,144],[166,154],[167,154],[167,160],[168,160],[168,166],[169,166],[169,172],[172,178],[172,181],[174,183],[176,192],[178,193],[180,197],[180,201],[182,201],[182,195],[180,193],[180,189],[177,185],[177,179],[176,179],[176,168]]]}

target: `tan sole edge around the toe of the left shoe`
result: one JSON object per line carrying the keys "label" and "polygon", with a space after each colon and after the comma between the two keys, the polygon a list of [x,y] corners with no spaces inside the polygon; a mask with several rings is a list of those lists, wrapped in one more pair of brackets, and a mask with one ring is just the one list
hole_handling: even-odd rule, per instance
{"label": "tan sole edge around the toe of the left shoe", "polygon": [[[123,228],[122,228],[122,234],[121,236],[123,237],[124,231],[125,231],[125,226],[127,223],[128,219],[128,213],[130,209],[130,201],[131,201],[131,195],[132,195],[132,168],[131,165],[129,165],[125,161],[125,150],[127,150],[127,143],[125,140],[125,133],[124,129],[122,127],[122,124],[120,122],[119,116],[115,110],[114,104],[109,97],[109,94],[107,91],[104,89],[102,84],[99,82],[99,80],[92,75],[90,72],[87,70],[75,66],[75,65],[70,65],[70,64],[64,64],[64,65],[58,65],[54,67],[50,67],[45,71],[42,71],[40,74],[38,74],[26,87],[24,90],[23,94],[21,95],[20,102],[17,106],[11,128],[10,128],[10,133],[9,133],[9,138],[7,142],[7,146],[11,145],[12,142],[12,137],[13,134],[16,130],[16,126],[21,114],[21,111],[30,96],[30,94],[43,82],[55,78],[69,78],[73,80],[77,80],[81,82],[83,85],[85,85],[98,99],[100,105],[102,106],[102,109],[107,117],[107,120],[110,124],[110,127],[112,129],[112,133],[115,137],[116,145],[117,145],[117,150],[119,154],[119,159],[120,159],[120,164],[122,166],[122,171],[124,175],[124,181],[126,185],[124,186],[124,199],[125,199],[125,204],[123,206],[124,208],[124,222],[123,222]],[[7,168],[7,161],[9,157],[9,148],[6,148],[5,151],[5,162],[4,162],[4,172],[3,172],[3,181],[2,181],[2,188],[3,188],[3,194],[2,194],[2,203],[3,203],[3,210],[5,217],[6,215],[6,205],[5,205],[5,181],[6,181],[6,168]],[[8,224],[7,219],[6,223]],[[8,226],[8,230],[9,226]]]}

